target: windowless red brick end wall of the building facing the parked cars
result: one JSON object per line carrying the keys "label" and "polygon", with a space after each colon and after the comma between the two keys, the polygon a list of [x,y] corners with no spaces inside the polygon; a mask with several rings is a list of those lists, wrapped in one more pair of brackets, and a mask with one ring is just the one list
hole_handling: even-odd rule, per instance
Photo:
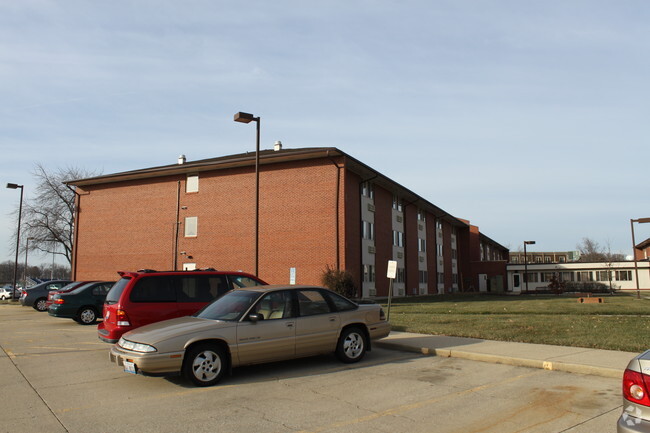
{"label": "windowless red brick end wall of the building facing the parked cars", "polygon": [[[291,169],[287,169],[290,168]],[[328,159],[262,166],[260,169],[259,276],[288,283],[320,284],[327,265],[336,265],[336,200],[339,170]],[[185,177],[123,182],[86,188],[82,193],[77,241],[77,279],[115,278],[118,270],[171,269],[177,181],[181,180],[180,221],[198,217],[198,236],[184,237],[183,262],[220,270],[254,271],[254,171],[204,172],[199,192],[185,193]],[[341,226],[343,226],[341,224]],[[343,244],[345,231],[341,230]],[[345,260],[342,254],[341,260]]]}

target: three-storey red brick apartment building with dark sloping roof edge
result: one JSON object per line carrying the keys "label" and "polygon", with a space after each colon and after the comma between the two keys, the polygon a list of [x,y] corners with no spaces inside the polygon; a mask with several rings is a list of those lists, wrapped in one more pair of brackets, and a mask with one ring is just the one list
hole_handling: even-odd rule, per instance
{"label": "three-storey red brick apartment building with dark sloping roof edge", "polygon": [[[505,290],[508,250],[336,148],[260,152],[259,276],[320,284],[351,272],[365,297]],[[77,191],[72,275],[254,272],[255,154],[68,182]]]}

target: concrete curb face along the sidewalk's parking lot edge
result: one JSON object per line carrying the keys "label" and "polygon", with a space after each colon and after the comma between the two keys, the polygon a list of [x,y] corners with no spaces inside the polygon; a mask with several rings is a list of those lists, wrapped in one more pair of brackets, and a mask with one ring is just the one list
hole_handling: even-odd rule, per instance
{"label": "concrete curb face along the sidewalk's parking lot edge", "polygon": [[400,344],[391,341],[375,341],[373,345],[390,350],[419,353],[427,356],[441,356],[445,358],[460,358],[470,361],[490,362],[492,364],[505,364],[516,367],[539,368],[550,371],[563,371],[566,373],[589,374],[620,379],[623,377],[623,370],[609,367],[597,367],[593,365],[574,364],[561,361],[544,361],[539,359],[518,358],[506,355],[493,355],[488,353],[469,352],[456,349],[438,349],[435,347],[418,347],[408,344]]}

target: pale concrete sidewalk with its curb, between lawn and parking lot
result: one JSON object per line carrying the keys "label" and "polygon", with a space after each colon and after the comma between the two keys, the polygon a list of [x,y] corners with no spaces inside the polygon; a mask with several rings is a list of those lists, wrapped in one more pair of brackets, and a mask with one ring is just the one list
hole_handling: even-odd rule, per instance
{"label": "pale concrete sidewalk with its curb, between lawn and parking lot", "polygon": [[622,378],[628,362],[637,355],[637,353],[615,350],[511,343],[397,331],[392,331],[384,339],[374,341],[373,345],[424,355],[463,358],[614,378]]}

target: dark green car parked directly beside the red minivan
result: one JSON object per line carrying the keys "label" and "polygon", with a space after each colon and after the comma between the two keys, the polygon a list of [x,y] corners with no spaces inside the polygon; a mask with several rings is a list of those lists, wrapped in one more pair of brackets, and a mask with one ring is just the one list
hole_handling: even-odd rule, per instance
{"label": "dark green car parked directly beside the red minivan", "polygon": [[95,281],[71,292],[58,293],[52,297],[47,311],[50,316],[67,317],[82,325],[92,325],[102,316],[104,299],[113,284],[114,281]]}

